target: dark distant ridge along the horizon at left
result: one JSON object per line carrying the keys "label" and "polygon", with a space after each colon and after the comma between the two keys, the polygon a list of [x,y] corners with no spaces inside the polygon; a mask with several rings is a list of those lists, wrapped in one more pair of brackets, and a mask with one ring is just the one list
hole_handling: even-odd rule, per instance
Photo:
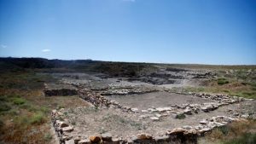
{"label": "dark distant ridge along the horizon at left", "polygon": [[[52,72],[61,69],[63,72],[102,72],[110,76],[137,76],[144,69],[154,69],[153,64],[110,62],[100,60],[48,60],[44,58],[0,58],[0,70],[41,69]],[[144,71],[146,72],[146,71]]]}

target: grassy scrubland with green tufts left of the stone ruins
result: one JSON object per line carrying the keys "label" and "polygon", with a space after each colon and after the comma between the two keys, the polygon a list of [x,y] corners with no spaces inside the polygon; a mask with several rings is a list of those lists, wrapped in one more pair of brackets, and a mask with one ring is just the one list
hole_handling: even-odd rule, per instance
{"label": "grassy scrubland with green tufts left of the stone ruins", "polygon": [[47,74],[24,68],[1,70],[4,71],[0,73],[0,140],[5,143],[49,144],[50,110],[86,105],[77,97],[44,97],[44,82],[55,81]]}

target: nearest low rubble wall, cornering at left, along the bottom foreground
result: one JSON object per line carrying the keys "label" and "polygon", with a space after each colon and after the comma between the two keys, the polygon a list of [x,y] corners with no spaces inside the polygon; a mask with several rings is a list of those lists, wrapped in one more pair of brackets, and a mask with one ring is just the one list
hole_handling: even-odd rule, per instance
{"label": "nearest low rubble wall, cornering at left, along the bottom foreground", "polygon": [[91,143],[108,143],[108,144],[196,144],[198,136],[205,135],[207,132],[224,127],[234,121],[247,121],[245,118],[236,117],[231,118],[227,116],[217,116],[210,119],[202,119],[198,125],[184,125],[183,127],[173,128],[171,130],[162,130],[161,135],[150,135],[139,132],[137,135],[128,135],[128,138],[113,137],[111,133],[102,133],[98,135],[69,135],[75,128],[68,124],[67,120],[61,119],[63,116],[63,109],[60,111],[53,110],[51,112],[52,124],[54,125],[56,134],[60,140],[60,144],[91,144]]}

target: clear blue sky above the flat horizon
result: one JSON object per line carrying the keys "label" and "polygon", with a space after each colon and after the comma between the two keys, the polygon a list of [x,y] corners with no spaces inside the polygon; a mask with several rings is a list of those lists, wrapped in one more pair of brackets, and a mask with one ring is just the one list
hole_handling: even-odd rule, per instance
{"label": "clear blue sky above the flat horizon", "polygon": [[0,56],[256,64],[256,0],[0,0]]}

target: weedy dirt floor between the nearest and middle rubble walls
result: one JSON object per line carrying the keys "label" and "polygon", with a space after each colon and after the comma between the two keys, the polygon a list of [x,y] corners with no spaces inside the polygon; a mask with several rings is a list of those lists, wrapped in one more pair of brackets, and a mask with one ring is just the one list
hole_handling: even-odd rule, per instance
{"label": "weedy dirt floor between the nearest and middle rubble walls", "polygon": [[[160,117],[159,121],[153,121],[149,117],[160,114],[154,112],[151,114],[121,112],[119,109],[104,108],[96,109],[95,107],[77,107],[63,111],[67,113],[64,119],[73,124],[73,132],[70,135],[86,138],[90,135],[99,135],[102,133],[111,133],[115,137],[129,138],[131,135],[145,132],[151,135],[161,135],[166,130],[183,126],[195,126],[200,124],[203,119],[210,119],[217,116],[230,116],[232,112],[245,112],[247,110],[255,111],[256,103],[242,102],[240,104],[219,107],[212,112],[199,112],[193,115],[186,115],[186,118],[177,119],[172,116]],[[232,110],[232,112],[230,112]],[[146,116],[143,118],[142,116]]]}

